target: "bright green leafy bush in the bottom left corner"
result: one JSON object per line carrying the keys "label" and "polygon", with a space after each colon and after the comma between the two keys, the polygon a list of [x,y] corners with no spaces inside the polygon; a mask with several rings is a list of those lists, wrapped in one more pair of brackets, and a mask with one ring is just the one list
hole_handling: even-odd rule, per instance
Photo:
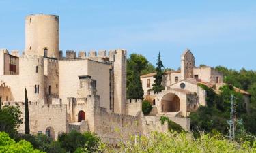
{"label": "bright green leafy bush in the bottom left corner", "polygon": [[5,132],[0,132],[0,152],[13,152],[13,153],[40,153],[40,150],[34,150],[31,143],[21,140],[15,142]]}

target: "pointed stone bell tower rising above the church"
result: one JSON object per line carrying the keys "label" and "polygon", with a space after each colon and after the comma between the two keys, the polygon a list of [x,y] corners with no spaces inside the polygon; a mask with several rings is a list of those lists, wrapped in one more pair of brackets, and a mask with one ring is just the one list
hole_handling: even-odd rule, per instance
{"label": "pointed stone bell tower rising above the church", "polygon": [[181,58],[181,79],[193,78],[193,68],[195,67],[195,57],[189,49],[186,49]]}

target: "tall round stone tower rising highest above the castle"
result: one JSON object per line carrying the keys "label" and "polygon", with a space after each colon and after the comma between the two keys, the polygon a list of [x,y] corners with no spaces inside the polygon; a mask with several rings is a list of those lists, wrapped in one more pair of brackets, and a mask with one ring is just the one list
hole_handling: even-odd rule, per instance
{"label": "tall round stone tower rising highest above the castle", "polygon": [[25,54],[59,58],[59,16],[32,14],[26,17]]}

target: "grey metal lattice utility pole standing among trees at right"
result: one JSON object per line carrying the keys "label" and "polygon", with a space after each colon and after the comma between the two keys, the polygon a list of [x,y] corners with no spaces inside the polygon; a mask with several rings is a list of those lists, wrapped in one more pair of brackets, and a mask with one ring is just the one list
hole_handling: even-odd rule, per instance
{"label": "grey metal lattice utility pole standing among trees at right", "polygon": [[230,98],[229,139],[235,139],[234,95]]}

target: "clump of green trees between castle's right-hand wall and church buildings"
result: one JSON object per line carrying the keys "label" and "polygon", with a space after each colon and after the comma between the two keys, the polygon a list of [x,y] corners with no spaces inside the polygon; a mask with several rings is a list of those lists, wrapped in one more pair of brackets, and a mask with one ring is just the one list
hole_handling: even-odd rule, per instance
{"label": "clump of green trees between castle's right-hand wall and church buildings", "polygon": [[143,89],[140,75],[154,72],[154,66],[145,56],[130,54],[127,60],[127,99],[142,99]]}

